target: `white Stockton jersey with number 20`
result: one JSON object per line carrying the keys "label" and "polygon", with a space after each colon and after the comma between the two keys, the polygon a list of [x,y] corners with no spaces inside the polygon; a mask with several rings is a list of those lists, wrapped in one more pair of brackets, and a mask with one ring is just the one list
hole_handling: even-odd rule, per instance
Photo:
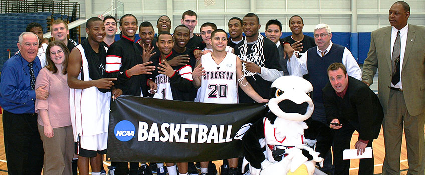
{"label": "white Stockton jersey with number 20", "polygon": [[206,74],[201,76],[201,86],[195,102],[239,103],[236,55],[230,52],[226,53],[225,58],[219,64],[212,59],[211,53],[202,55],[201,60]]}

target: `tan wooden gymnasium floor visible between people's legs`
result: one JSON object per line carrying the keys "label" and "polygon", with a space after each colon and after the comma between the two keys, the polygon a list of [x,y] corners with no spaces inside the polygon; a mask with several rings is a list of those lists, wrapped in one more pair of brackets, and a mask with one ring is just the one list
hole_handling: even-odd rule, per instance
{"label": "tan wooden gymnasium floor visible between people's legs", "polygon": [[[371,85],[371,89],[375,92],[377,91],[377,75],[375,75],[374,82]],[[7,161],[6,161],[6,155],[5,155],[5,146],[4,146],[4,140],[3,140],[3,122],[2,119],[3,116],[0,115],[0,174],[7,174]],[[354,149],[354,144],[358,140],[358,133],[354,132],[352,138],[351,138],[351,149]],[[373,154],[375,158],[375,174],[381,174],[382,172],[382,163],[385,156],[385,150],[384,150],[384,140],[382,135],[382,129],[379,135],[379,138],[377,140],[373,141]],[[222,161],[215,161],[216,167],[219,168]],[[31,163],[31,162],[28,162]],[[107,166],[109,166],[110,162],[104,161],[104,167],[107,169]],[[350,168],[350,174],[357,174],[358,173],[358,159],[357,160],[351,160],[351,168]],[[400,169],[401,174],[407,174],[407,151],[406,151],[406,144],[405,144],[405,137],[403,134],[403,141],[401,145],[401,157],[400,157]]]}

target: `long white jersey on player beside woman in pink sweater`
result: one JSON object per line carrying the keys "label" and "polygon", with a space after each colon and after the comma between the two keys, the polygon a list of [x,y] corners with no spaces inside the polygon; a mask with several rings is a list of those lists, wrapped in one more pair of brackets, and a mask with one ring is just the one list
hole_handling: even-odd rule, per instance
{"label": "long white jersey on player beside woman in pink sweater", "polygon": [[[82,57],[84,81],[90,81],[92,79],[89,77],[89,64],[83,46],[79,44],[75,48]],[[78,79],[81,80],[81,72]],[[110,97],[111,92],[102,93],[96,87],[70,89],[69,104],[75,142],[79,135],[91,136],[108,132]]]}

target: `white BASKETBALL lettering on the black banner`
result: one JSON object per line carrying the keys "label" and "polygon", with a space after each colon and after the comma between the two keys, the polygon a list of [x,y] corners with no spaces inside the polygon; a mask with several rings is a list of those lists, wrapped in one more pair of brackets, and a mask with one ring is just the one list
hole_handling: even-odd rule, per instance
{"label": "white BASKETBALL lettering on the black banner", "polygon": [[162,123],[158,126],[158,123],[154,122],[149,126],[148,123],[139,121],[137,141],[225,143],[232,141],[231,131],[232,125],[212,125],[209,129],[204,124]]}

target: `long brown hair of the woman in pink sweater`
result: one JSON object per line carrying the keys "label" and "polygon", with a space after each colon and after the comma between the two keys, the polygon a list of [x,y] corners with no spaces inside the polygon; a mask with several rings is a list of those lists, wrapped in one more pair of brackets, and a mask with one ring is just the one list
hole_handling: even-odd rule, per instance
{"label": "long brown hair of the woman in pink sweater", "polygon": [[49,45],[47,45],[46,48],[46,68],[51,71],[53,74],[55,74],[58,71],[58,68],[55,66],[55,63],[53,63],[52,59],[50,58],[50,48],[54,47],[54,46],[59,46],[61,47],[62,51],[64,52],[65,55],[65,60],[64,63],[62,63],[62,74],[66,74],[67,73],[67,68],[68,68],[68,58],[69,58],[69,50],[68,47],[65,46],[65,44],[61,41],[52,41],[49,43]]}

